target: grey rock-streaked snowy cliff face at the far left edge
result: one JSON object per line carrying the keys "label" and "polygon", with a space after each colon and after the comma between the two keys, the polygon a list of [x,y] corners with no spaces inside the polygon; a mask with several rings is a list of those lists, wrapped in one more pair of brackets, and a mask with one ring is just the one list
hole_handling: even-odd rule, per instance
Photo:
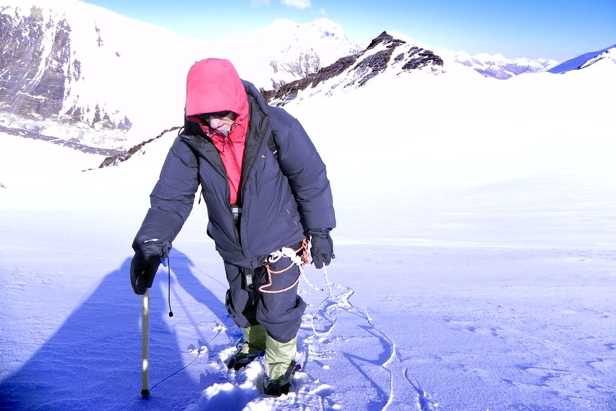
{"label": "grey rock-streaked snowy cliff face at the far left edge", "polygon": [[[27,3],[2,8],[0,15],[1,121],[11,129],[41,132],[54,128],[67,140],[115,148],[131,120],[113,102],[82,98],[95,76],[83,64],[70,17]],[[81,32],[92,49],[102,46],[94,22]],[[81,89],[81,90],[80,90]],[[45,124],[53,121],[53,124]],[[73,127],[70,127],[73,126]],[[104,131],[102,139],[97,132]]]}

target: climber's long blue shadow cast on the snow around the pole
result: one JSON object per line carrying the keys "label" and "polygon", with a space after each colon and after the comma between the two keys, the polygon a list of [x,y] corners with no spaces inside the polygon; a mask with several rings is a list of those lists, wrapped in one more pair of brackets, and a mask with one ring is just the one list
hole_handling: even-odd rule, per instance
{"label": "climber's long blue shadow cast on the snow around the pole", "polygon": [[[190,259],[173,250],[171,262],[179,284],[195,300],[208,306],[218,321],[229,321],[221,301],[193,276]],[[148,398],[140,395],[142,300],[130,287],[130,266],[128,258],[120,268],[107,274],[99,287],[22,368],[0,382],[0,409],[178,410],[196,401],[203,389],[219,382],[220,375],[201,372],[200,381],[188,375],[186,364],[191,354],[187,353],[187,348],[191,347],[179,346],[176,330],[163,320],[168,317],[168,296],[161,292],[161,287],[152,287],[152,395]],[[161,268],[158,276],[162,275]],[[180,301],[179,298],[175,300]],[[182,314],[188,315],[186,309],[183,311]],[[214,337],[213,334],[206,338],[199,322],[192,317],[189,321],[198,333],[200,346]],[[231,329],[227,333],[232,334],[232,321],[226,325]],[[235,339],[235,335],[227,337]]]}

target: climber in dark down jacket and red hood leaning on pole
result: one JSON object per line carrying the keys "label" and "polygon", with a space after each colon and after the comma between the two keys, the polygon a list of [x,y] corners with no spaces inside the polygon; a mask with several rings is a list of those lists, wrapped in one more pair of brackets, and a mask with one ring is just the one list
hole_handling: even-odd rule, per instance
{"label": "climber in dark down jacket and red hood leaning on pole", "polygon": [[299,121],[268,106],[228,60],[190,68],[185,114],[132,244],[132,287],[137,294],[152,287],[201,186],[206,232],[229,281],[225,304],[245,337],[227,365],[239,369],[265,351],[266,388],[280,394],[306,308],[297,290],[307,239],[315,267],[334,257],[325,164]]}

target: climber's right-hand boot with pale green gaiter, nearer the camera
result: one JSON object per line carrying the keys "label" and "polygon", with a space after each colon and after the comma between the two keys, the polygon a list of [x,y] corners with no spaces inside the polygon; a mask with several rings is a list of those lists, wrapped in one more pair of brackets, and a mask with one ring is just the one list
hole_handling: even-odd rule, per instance
{"label": "climber's right-hand boot with pale green gaiter, nearer the camera", "polygon": [[288,394],[293,375],[301,367],[294,360],[298,353],[298,337],[296,335],[293,340],[281,343],[268,334],[265,341],[263,393],[277,397]]}

